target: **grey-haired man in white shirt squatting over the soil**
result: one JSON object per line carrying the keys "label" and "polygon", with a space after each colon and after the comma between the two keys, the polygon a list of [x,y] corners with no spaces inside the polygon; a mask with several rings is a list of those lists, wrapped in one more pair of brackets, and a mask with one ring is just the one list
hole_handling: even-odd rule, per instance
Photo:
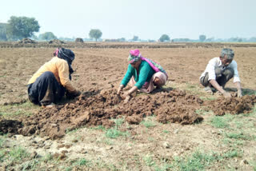
{"label": "grey-haired man in white shirt squatting over the soil", "polygon": [[224,87],[230,78],[234,78],[234,85],[236,85],[238,89],[238,97],[242,97],[238,65],[233,58],[234,51],[225,48],[222,50],[219,58],[212,58],[208,62],[206,70],[200,77],[200,82],[205,86],[206,92],[213,94],[213,89],[211,88],[214,88],[224,97],[231,97],[230,93],[227,92]]}

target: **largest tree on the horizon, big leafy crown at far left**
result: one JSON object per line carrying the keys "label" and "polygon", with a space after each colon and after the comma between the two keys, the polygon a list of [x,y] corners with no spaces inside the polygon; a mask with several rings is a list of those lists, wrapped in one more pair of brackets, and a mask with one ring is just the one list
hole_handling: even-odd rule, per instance
{"label": "largest tree on the horizon, big leafy crown at far left", "polygon": [[6,34],[8,39],[20,40],[31,38],[39,28],[38,21],[34,18],[11,16],[6,26]]}

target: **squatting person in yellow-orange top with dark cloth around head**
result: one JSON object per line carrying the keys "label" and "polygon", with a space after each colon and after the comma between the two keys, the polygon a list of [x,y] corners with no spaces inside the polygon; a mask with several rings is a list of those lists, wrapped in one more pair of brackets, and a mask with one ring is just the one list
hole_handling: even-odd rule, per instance
{"label": "squatting person in yellow-orange top with dark cloth around head", "polygon": [[72,50],[58,48],[54,51],[54,58],[46,62],[30,78],[28,82],[29,100],[42,107],[52,107],[60,101],[65,93],[70,97],[80,95],[80,91],[71,84],[72,62],[74,53]]}

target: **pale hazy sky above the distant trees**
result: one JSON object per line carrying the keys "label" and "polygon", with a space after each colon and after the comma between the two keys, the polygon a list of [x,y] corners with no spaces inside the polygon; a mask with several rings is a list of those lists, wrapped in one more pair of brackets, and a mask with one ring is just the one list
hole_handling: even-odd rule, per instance
{"label": "pale hazy sky above the distant trees", "polygon": [[256,0],[6,0],[0,22],[10,16],[34,17],[40,34],[89,38],[256,37]]}

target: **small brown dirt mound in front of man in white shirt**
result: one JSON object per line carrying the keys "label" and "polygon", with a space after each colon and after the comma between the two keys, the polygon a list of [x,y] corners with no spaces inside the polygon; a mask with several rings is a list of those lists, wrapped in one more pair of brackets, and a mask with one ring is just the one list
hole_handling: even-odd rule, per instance
{"label": "small brown dirt mound in front of man in white shirt", "polygon": [[256,103],[256,96],[244,96],[241,98],[218,98],[215,101],[210,101],[207,105],[214,111],[215,115],[222,116],[226,113],[238,114],[249,113],[252,107]]}

